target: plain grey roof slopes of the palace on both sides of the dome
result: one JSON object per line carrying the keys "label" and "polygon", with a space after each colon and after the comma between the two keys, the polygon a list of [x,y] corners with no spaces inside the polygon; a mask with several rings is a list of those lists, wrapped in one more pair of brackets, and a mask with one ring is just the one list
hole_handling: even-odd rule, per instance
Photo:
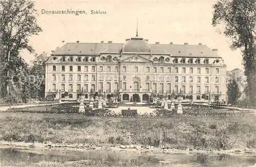
{"label": "plain grey roof slopes of the palace on both sides of the dome", "polygon": [[[219,58],[216,50],[206,45],[189,44],[149,44],[152,55],[171,55],[173,57],[212,57]],[[124,43],[67,43],[51,55],[100,55],[121,54]]]}

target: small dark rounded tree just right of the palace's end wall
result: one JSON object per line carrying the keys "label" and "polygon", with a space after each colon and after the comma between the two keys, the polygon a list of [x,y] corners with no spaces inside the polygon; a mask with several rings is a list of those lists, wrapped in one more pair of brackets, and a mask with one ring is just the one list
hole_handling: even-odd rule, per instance
{"label": "small dark rounded tree just right of the palace's end wall", "polygon": [[229,79],[229,83],[227,86],[227,96],[228,96],[228,103],[232,105],[238,102],[238,99],[241,96],[241,91],[239,87],[238,80],[236,78]]}

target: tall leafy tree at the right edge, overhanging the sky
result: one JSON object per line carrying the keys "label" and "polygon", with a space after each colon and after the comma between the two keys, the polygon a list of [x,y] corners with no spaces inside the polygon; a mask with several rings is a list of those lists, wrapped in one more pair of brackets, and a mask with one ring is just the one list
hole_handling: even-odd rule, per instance
{"label": "tall leafy tree at the right edge, overhanging the sky", "polygon": [[224,23],[224,34],[231,39],[232,50],[241,49],[248,97],[256,105],[256,54],[255,54],[256,0],[219,0],[214,5],[212,25]]}

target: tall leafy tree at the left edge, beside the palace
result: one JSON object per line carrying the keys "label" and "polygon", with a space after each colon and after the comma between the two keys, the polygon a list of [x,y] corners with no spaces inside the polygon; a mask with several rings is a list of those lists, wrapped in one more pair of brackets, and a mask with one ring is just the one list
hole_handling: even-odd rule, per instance
{"label": "tall leafy tree at the left edge, beside the palace", "polygon": [[36,10],[30,0],[0,1],[0,22],[0,85],[1,95],[5,97],[12,75],[27,70],[27,63],[19,52],[24,49],[33,52],[29,37],[42,30],[37,25]]}

